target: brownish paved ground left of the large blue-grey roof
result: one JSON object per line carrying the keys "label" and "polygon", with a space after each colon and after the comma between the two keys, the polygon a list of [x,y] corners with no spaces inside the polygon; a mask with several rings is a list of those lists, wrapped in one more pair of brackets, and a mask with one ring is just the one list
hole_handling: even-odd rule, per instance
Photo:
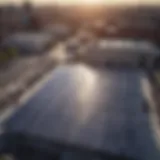
{"label": "brownish paved ground left of the large blue-grey roof", "polygon": [[[62,44],[42,56],[28,56],[13,60],[0,70],[0,110],[17,103],[20,97],[56,65],[63,63]],[[62,56],[61,56],[62,55]],[[57,58],[58,57],[58,58]],[[61,58],[62,57],[62,58]]]}

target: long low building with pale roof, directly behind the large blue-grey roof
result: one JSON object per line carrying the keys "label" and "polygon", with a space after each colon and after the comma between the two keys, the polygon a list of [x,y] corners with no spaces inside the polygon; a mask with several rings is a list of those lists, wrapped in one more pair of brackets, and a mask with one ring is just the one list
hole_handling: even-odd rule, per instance
{"label": "long low building with pale roof, directly behind the large blue-grey roof", "polygon": [[139,66],[141,59],[144,58],[148,67],[152,67],[159,53],[159,49],[148,41],[102,40],[88,46],[83,58],[96,64],[112,63],[128,66]]}

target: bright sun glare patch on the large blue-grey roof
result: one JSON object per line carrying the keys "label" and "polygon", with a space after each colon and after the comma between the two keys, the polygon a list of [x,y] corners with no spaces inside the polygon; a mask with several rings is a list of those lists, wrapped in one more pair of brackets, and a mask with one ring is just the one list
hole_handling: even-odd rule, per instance
{"label": "bright sun glare patch on the large blue-grey roof", "polygon": [[75,80],[79,83],[83,83],[81,87],[78,87],[77,95],[80,106],[76,107],[78,120],[80,123],[85,123],[91,115],[95,112],[94,105],[91,105],[91,96],[94,97],[97,85],[97,75],[93,70],[88,67],[79,65],[75,70]]}

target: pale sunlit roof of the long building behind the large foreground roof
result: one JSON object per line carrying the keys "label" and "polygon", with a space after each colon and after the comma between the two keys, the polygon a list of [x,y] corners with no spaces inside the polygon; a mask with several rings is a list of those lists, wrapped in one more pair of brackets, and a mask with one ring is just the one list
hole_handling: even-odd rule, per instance
{"label": "pale sunlit roof of the long building behind the large foreground roof", "polygon": [[116,51],[116,53],[125,52],[127,54],[151,54],[159,55],[159,48],[149,41],[143,40],[130,40],[130,39],[104,39],[91,44],[90,48],[105,50],[107,51]]}

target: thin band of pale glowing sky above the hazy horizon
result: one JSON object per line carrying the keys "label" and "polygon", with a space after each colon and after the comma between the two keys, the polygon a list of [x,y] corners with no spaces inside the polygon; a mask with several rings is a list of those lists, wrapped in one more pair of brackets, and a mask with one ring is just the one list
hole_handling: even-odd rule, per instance
{"label": "thin band of pale glowing sky above the hazy horizon", "polygon": [[160,0],[0,0],[0,5],[21,5],[24,2],[30,2],[35,6],[42,6],[42,5],[160,5]]}

